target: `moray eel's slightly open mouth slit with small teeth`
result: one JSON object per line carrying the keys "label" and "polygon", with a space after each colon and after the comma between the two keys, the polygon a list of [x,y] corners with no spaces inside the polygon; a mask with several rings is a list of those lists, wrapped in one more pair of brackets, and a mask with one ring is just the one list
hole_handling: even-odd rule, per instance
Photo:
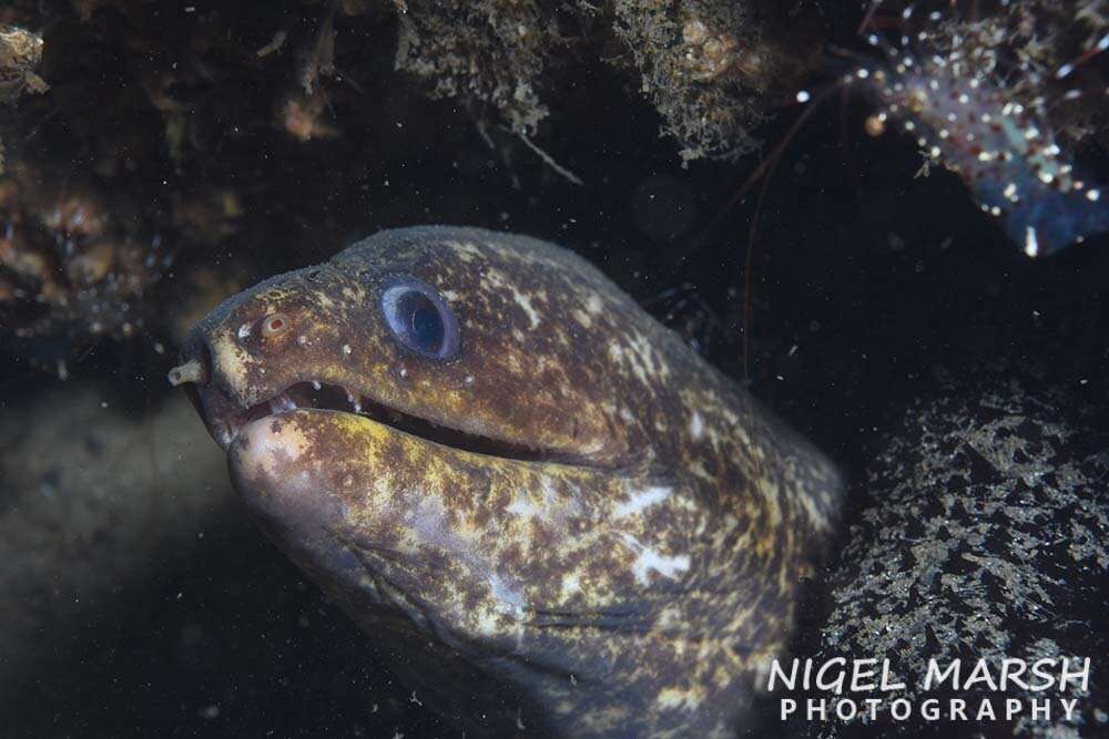
{"label": "moray eel's slightly open mouth slit with small teeth", "polygon": [[224,450],[250,423],[295,410],[321,410],[362,415],[424,441],[475,454],[521,462],[572,462],[571,455],[566,452],[462,431],[390,408],[356,391],[315,380],[297,382],[248,408],[235,404],[213,386],[192,384],[189,394],[208,432]]}

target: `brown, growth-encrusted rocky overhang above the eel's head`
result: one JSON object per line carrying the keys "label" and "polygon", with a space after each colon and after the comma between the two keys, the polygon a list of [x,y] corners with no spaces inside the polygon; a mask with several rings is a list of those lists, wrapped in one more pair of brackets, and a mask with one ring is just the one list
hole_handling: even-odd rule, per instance
{"label": "brown, growth-encrusted rocky overhang above the eel's head", "polygon": [[[1080,3],[1076,23],[1041,0],[940,21],[899,10],[876,3],[863,23],[919,29],[923,50],[973,39],[1022,70],[1015,101],[1074,93],[1048,106],[1068,146],[1103,130],[1105,81],[1081,63],[1105,33],[1102,3]],[[166,307],[211,305],[195,296],[220,283],[214,264],[261,275],[369,224],[420,219],[387,189],[398,170],[442,154],[517,188],[520,167],[603,182],[573,142],[606,105],[654,116],[682,163],[790,144],[767,123],[800,89],[833,91],[864,54],[894,63],[845,51],[865,47],[862,17],[817,0],[8,3],[0,330],[17,358],[62,374],[105,340],[172,343]],[[1066,80],[1050,74],[1068,63]],[[431,141],[440,154],[414,155]]]}

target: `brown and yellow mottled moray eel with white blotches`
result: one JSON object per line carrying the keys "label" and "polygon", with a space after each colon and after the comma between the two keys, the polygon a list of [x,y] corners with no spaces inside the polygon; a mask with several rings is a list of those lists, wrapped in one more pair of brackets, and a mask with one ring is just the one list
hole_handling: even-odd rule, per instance
{"label": "brown and yellow mottled moray eel with white blotches", "polygon": [[478,733],[743,728],[840,505],[815,449],[526,236],[379,233],[227,299],[170,380],[261,528]]}

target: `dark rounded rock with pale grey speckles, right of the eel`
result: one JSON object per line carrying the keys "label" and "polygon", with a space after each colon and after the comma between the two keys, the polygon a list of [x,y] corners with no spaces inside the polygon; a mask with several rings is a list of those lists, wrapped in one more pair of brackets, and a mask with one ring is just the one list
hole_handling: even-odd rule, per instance
{"label": "dark rounded rock with pale grey speckles, right of the eel", "polygon": [[[918,678],[925,656],[943,666],[959,659],[969,670],[978,659],[1031,664],[1067,656],[1078,664],[1109,653],[1098,623],[1109,606],[1109,444],[1103,430],[1074,413],[1085,407],[1081,384],[1044,390],[1035,376],[1020,376],[950,380],[942,393],[909,404],[886,431],[862,485],[869,502],[851,522],[831,573],[817,663],[865,655],[888,659],[895,675]],[[1064,694],[1082,704],[1070,720],[1058,709],[1050,718],[1026,711],[1006,730],[1036,737],[1105,731],[1109,686],[1098,673],[1087,689]],[[918,704],[923,690],[910,679],[884,698]],[[974,715],[991,692],[983,684],[943,695],[965,700]],[[1011,686],[1005,695],[1057,697]],[[929,730],[919,716],[897,721],[888,710],[862,722],[804,728],[817,737]]]}

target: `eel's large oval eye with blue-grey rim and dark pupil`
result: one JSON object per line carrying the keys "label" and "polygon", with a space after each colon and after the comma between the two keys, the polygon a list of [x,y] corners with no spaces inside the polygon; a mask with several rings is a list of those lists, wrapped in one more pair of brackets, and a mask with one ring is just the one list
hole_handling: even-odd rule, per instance
{"label": "eel's large oval eye with blue-grey rim and dark pupil", "polygon": [[458,319],[430,285],[394,277],[381,292],[381,312],[389,331],[407,349],[428,359],[458,353]]}

